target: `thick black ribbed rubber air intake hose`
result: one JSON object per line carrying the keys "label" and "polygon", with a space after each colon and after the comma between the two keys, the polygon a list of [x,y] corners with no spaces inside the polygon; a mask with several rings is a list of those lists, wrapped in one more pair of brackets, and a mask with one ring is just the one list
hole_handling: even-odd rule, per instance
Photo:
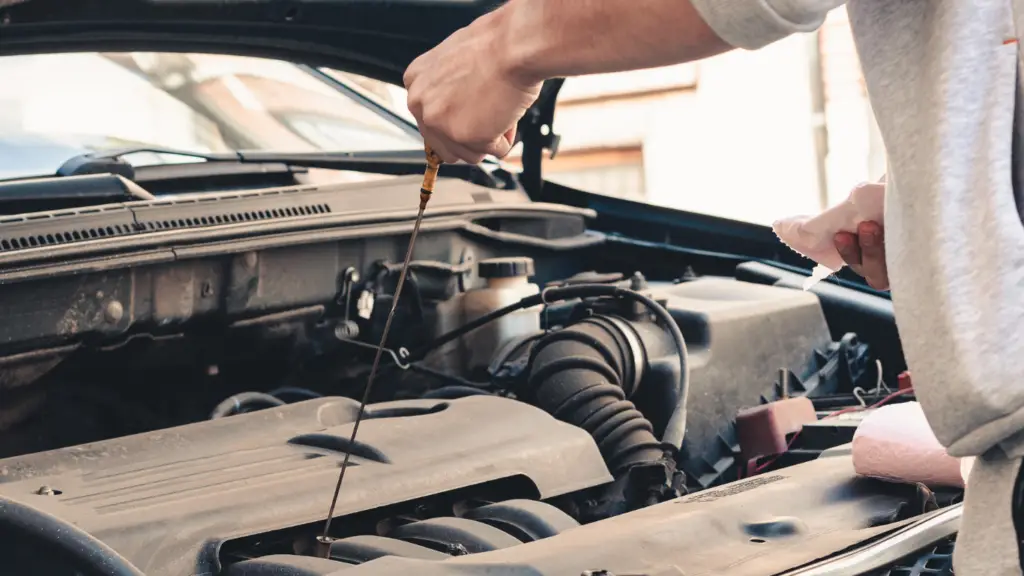
{"label": "thick black ribbed rubber air intake hose", "polygon": [[665,455],[650,421],[627,400],[642,370],[629,329],[596,316],[545,336],[534,347],[525,390],[538,407],[590,433],[615,476]]}

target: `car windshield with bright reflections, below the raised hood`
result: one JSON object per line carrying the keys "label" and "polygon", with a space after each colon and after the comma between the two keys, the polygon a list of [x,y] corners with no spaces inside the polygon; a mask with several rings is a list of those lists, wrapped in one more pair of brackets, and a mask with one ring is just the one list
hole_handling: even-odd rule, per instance
{"label": "car windshield with bright reflections, below the raised hood", "polygon": [[0,57],[0,178],[52,174],[78,154],[140,146],[199,153],[422,149],[414,127],[368,106],[359,92],[285,61],[153,52],[20,55]]}

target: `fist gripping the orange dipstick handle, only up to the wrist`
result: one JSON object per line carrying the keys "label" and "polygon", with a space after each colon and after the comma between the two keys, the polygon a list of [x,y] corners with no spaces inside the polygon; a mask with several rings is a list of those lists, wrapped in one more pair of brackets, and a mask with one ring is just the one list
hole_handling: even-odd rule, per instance
{"label": "fist gripping the orange dipstick handle, only up to the wrist", "polygon": [[517,78],[503,66],[508,46],[502,45],[500,17],[480,17],[406,71],[409,110],[426,142],[446,163],[505,157],[516,123],[540,94],[541,82]]}

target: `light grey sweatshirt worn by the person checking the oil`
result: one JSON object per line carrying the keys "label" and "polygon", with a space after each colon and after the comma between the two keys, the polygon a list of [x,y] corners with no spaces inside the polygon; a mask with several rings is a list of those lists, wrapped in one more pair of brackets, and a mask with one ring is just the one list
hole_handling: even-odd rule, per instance
{"label": "light grey sweatshirt worn by the person checking the oil", "polygon": [[[844,3],[692,1],[746,49],[814,31]],[[1024,0],[845,3],[888,153],[886,252],[914,389],[950,454],[984,455],[956,574],[1020,574],[1010,500],[1024,456],[1024,225],[1012,166]]]}

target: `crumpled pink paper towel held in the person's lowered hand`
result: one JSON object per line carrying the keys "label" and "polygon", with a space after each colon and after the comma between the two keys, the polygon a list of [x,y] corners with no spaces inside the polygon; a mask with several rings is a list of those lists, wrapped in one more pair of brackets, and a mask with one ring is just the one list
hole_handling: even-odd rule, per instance
{"label": "crumpled pink paper towel held in the person's lowered hand", "polygon": [[783,244],[817,262],[804,289],[839,272],[845,263],[836,250],[836,235],[857,232],[860,222],[882,222],[885,215],[886,186],[864,183],[853,189],[850,196],[816,216],[792,216],[772,224],[775,236]]}

